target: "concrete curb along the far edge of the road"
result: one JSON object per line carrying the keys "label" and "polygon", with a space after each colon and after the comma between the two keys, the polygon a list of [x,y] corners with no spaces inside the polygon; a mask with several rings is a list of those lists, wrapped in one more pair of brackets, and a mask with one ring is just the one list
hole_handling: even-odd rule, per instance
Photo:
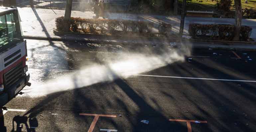
{"label": "concrete curb along the far edge of the road", "polygon": [[[105,40],[77,40],[77,39],[63,39],[63,38],[48,38],[48,37],[39,37],[39,36],[24,36],[24,39],[34,39],[34,40],[46,40],[46,41],[77,41],[77,42],[86,42],[86,43],[104,43],[104,44],[124,44],[127,42],[114,42],[114,41],[105,41]],[[174,40],[174,39],[172,39]],[[181,40],[178,40],[180,42]],[[190,41],[190,40],[182,40],[184,43],[188,43],[188,45],[191,45],[193,49],[223,49],[223,50],[249,50],[249,51],[256,51],[256,45],[255,44],[232,44],[227,45],[227,43],[208,43],[205,44],[205,42],[202,41]],[[174,41],[169,41],[174,42]],[[175,40],[177,42],[177,39]],[[131,44],[138,45],[139,43],[136,42],[130,42]],[[160,42],[161,43],[161,42]],[[152,43],[145,43],[145,45],[151,45]]]}

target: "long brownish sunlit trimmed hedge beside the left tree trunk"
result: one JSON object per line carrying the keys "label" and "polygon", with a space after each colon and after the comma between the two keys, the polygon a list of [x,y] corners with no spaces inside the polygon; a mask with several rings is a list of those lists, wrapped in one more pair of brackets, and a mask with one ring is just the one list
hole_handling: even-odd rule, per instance
{"label": "long brownish sunlit trimmed hedge beside the left tree trunk", "polygon": [[[83,19],[80,17],[71,17],[65,21],[64,17],[56,18],[56,27],[58,31],[65,31],[65,22],[70,25],[69,31],[91,34],[115,34],[116,31],[138,32],[140,34],[153,34],[154,23],[146,21],[131,20],[110,20],[110,19]],[[67,25],[66,24],[66,25]],[[158,24],[160,34],[168,35],[171,33],[172,25],[164,22]]]}

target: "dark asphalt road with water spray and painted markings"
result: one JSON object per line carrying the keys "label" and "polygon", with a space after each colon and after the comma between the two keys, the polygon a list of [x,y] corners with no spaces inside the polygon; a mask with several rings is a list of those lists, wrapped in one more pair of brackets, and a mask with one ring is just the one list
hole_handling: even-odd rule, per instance
{"label": "dark asphalt road with water spray and painted markings", "polygon": [[256,131],[255,52],[27,41],[7,132]]}

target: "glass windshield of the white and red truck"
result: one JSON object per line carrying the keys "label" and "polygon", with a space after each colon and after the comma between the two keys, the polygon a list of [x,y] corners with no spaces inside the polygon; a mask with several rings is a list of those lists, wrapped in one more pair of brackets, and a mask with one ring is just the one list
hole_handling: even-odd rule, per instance
{"label": "glass windshield of the white and red truck", "polygon": [[0,16],[0,52],[22,41],[18,12],[14,11]]}

